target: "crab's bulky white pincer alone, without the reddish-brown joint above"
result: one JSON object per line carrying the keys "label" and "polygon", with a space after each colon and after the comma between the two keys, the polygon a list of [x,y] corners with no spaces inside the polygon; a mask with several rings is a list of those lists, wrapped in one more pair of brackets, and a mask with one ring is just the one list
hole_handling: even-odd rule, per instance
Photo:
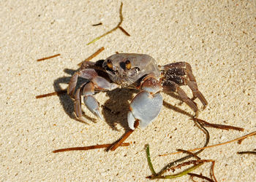
{"label": "crab's bulky white pincer alone, without the reddish-brown joint above", "polygon": [[162,108],[162,95],[158,92],[154,95],[143,90],[133,98],[130,104],[127,120],[129,128],[135,130],[136,119],[140,120],[140,127],[146,128],[159,114]]}

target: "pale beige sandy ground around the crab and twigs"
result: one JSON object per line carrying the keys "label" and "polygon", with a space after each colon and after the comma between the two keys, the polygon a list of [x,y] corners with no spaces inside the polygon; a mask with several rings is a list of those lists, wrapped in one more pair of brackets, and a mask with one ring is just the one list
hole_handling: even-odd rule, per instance
{"label": "pale beige sandy ground around the crab and twigs", "polygon": [[[83,107],[89,124],[72,115],[67,95],[36,99],[36,95],[67,87],[80,61],[99,47],[93,61],[118,52],[151,55],[160,65],[187,61],[208,100],[200,119],[244,127],[244,132],[208,128],[209,145],[256,130],[256,1],[123,1],[125,28],[94,44],[89,41],[115,27],[121,1],[0,2],[0,181],[146,181],[151,175],[146,143],[155,170],[184,154],[158,157],[176,149],[203,146],[205,135],[190,120],[192,110],[170,95],[157,119],[135,130],[129,147],[53,154],[55,149],[113,143],[128,130],[132,92],[96,95],[105,122]],[[92,26],[102,22],[103,25]],[[60,53],[61,56],[37,62]],[[187,87],[184,90],[191,96]],[[201,103],[195,100],[199,107]],[[214,159],[218,181],[256,181],[255,155],[237,151],[256,148],[255,137],[200,154]],[[135,142],[135,143],[133,143]],[[210,164],[195,170],[209,176]],[[174,180],[175,181],[175,180]],[[185,175],[176,181],[189,181]]]}

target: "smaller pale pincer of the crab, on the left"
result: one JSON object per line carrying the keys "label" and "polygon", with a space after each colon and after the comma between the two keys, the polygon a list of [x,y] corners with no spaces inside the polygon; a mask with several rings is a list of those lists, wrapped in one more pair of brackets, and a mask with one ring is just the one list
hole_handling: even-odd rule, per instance
{"label": "smaller pale pincer of the crab, on the left", "polygon": [[83,102],[86,104],[87,108],[94,115],[98,116],[102,121],[104,121],[102,114],[99,112],[99,103],[92,95],[87,95],[83,97]]}

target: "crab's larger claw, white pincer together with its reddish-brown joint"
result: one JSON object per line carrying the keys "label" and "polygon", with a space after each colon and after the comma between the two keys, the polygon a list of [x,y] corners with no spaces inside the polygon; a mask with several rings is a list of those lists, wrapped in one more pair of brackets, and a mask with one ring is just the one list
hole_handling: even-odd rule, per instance
{"label": "crab's larger claw, white pincer together with its reddish-brown joint", "polygon": [[129,106],[127,116],[128,125],[135,130],[134,124],[138,119],[140,127],[144,129],[159,114],[162,108],[162,95],[159,93],[162,86],[153,76],[146,76],[140,85],[140,91]]}

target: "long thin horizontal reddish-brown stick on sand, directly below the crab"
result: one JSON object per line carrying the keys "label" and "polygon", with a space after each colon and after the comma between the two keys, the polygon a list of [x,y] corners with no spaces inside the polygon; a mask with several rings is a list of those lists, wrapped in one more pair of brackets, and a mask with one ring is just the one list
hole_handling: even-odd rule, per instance
{"label": "long thin horizontal reddish-brown stick on sand, directly below the crab", "polygon": [[[88,151],[91,149],[108,148],[110,146],[112,146],[112,144],[102,144],[102,145],[96,145],[96,146],[79,146],[79,147],[72,147],[67,149],[58,149],[53,151],[53,153],[62,152],[62,151]],[[129,143],[121,143],[120,146],[129,146]]]}

